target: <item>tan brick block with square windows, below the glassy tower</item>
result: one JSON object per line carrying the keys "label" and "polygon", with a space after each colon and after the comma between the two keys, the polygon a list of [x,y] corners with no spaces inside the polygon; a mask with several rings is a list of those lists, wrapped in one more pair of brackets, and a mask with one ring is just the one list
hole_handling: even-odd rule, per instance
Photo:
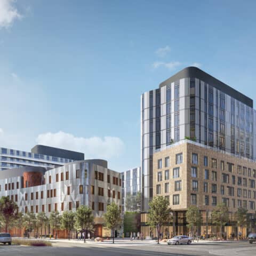
{"label": "tan brick block with square windows, below the glassy tower", "polygon": [[[174,221],[163,227],[163,234],[187,234],[186,210],[197,205],[202,213],[201,235],[214,235],[211,225],[214,207],[225,203],[230,212],[225,227],[227,238],[237,234],[234,213],[238,207],[248,210],[251,220],[247,231],[255,231],[256,163],[223,150],[183,140],[156,151],[153,156],[153,196],[165,196],[173,210]],[[142,222],[146,222],[142,214]],[[141,231],[149,235],[149,228]],[[168,231],[167,231],[168,230]],[[152,230],[155,233],[155,230]],[[246,235],[246,230],[243,230]],[[164,235],[165,236],[165,235]]]}

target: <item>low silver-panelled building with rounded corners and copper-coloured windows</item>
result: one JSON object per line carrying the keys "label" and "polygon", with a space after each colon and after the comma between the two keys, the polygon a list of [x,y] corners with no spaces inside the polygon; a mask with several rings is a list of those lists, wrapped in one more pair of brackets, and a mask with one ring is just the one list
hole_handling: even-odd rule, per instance
{"label": "low silver-panelled building with rounded corners and copper-coloured windows", "polygon": [[19,212],[75,211],[91,207],[95,236],[107,236],[103,213],[115,202],[121,209],[121,174],[108,169],[107,161],[75,161],[53,169],[26,166],[0,172],[0,197],[8,196]]}

